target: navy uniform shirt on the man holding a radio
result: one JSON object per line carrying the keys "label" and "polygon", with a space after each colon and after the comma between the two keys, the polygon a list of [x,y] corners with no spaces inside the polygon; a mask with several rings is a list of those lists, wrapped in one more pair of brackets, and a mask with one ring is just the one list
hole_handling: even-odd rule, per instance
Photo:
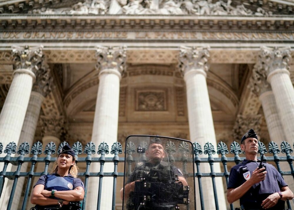
{"label": "navy uniform shirt on the man holding a radio", "polygon": [[[228,189],[235,189],[241,186],[246,179],[248,180],[251,177],[252,172],[259,166],[259,164],[260,160],[244,160],[242,163],[235,165],[230,171]],[[263,163],[263,165],[266,166],[267,171],[265,180],[252,185],[252,187],[240,198],[240,205],[251,205],[251,208],[255,208],[256,206],[259,208],[262,201],[270,194],[279,192],[282,187],[288,186],[273,165],[268,163]],[[248,168],[247,173],[242,170],[245,167]],[[282,201],[280,200],[279,203],[280,202]],[[283,204],[285,205],[284,202],[282,202],[282,205]]]}

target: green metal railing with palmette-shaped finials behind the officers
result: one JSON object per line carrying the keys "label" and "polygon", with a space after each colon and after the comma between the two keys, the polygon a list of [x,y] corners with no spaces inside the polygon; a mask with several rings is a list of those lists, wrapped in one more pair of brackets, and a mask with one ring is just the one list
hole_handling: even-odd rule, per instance
{"label": "green metal railing with palmette-shaped finials behind the officers", "polygon": [[[63,142],[59,145],[59,149],[63,147],[66,142]],[[130,142],[128,143],[130,144]],[[294,146],[294,145],[293,145]],[[24,194],[24,199],[22,201],[22,210],[26,209],[27,202],[28,202],[28,197],[29,197],[29,190],[31,189],[31,185],[34,184],[32,183],[32,178],[34,176],[42,176],[43,174],[48,173],[48,166],[50,162],[56,161],[56,157],[51,157],[52,154],[56,153],[56,145],[51,142],[45,146],[45,149],[43,151],[43,145],[41,142],[36,142],[30,150],[30,145],[27,142],[22,143],[19,146],[19,149],[16,151],[17,146],[14,142],[9,143],[6,145],[4,149],[4,153],[6,153],[5,157],[0,158],[0,162],[4,163],[3,170],[0,172],[0,196],[2,194],[7,194],[10,193],[10,199],[9,203],[7,206],[7,209],[11,209],[12,201],[14,198],[14,193],[16,190],[16,184],[18,182],[19,177],[28,177],[28,181],[26,184],[26,191]],[[57,153],[59,151],[57,150]],[[116,184],[117,184],[117,177],[123,177],[124,174],[123,172],[118,172],[117,171],[117,166],[119,162],[124,162],[125,158],[124,157],[119,157],[119,154],[122,154],[123,148],[122,145],[119,142],[113,143],[111,146],[110,153],[113,154],[113,157],[105,157],[106,154],[109,154],[109,146],[103,142],[98,146],[98,150],[96,151],[96,146],[93,142],[89,142],[84,149],[82,148],[82,144],[80,142],[76,142],[72,145],[72,149],[75,152],[76,156],[76,161],[81,164],[85,163],[86,164],[86,171],[84,172],[79,172],[78,176],[79,177],[84,177],[85,178],[85,189],[87,193],[87,186],[88,184],[91,184],[89,182],[89,177],[99,177],[99,186],[98,186],[98,203],[97,203],[97,209],[100,209],[100,204],[101,204],[101,193],[102,193],[102,179],[103,177],[113,177],[113,198],[112,198],[112,209],[115,209],[115,200],[116,200]],[[291,145],[288,142],[283,141],[280,145],[280,148],[278,144],[275,142],[270,142],[268,144],[268,150],[266,149],[265,145],[262,142],[258,142],[258,149],[260,154],[266,154],[270,153],[272,154],[271,156],[268,155],[265,157],[266,161],[268,162],[273,162],[277,166],[278,171],[283,175],[283,176],[293,176],[294,178],[294,168],[293,168],[293,156],[291,153],[293,153],[293,149],[291,148]],[[3,145],[0,142],[0,154],[3,151]],[[136,151],[131,149],[130,146],[126,146],[126,161],[133,161],[132,159],[132,154],[135,153]],[[235,164],[239,164],[241,161],[241,158],[239,154],[242,153],[240,149],[240,145],[234,141],[233,143],[230,144],[230,150],[228,149],[227,145],[223,142],[218,143],[217,148],[215,150],[214,146],[211,143],[206,143],[203,147],[197,142],[193,143],[193,148],[191,148],[191,151],[194,153],[194,162],[196,164],[196,172],[194,174],[195,178],[198,179],[198,184],[199,184],[199,189],[196,189],[196,193],[199,193],[200,195],[200,203],[201,203],[201,209],[204,209],[204,199],[203,199],[203,185],[201,178],[202,177],[211,177],[212,179],[212,184],[213,184],[213,192],[214,192],[214,202],[216,205],[216,209],[219,209],[219,204],[218,204],[218,196],[216,192],[216,182],[215,182],[215,177],[225,177],[226,183],[228,184],[228,177],[229,177],[229,172],[227,169],[227,163],[234,162]],[[19,156],[11,157],[11,154],[17,154]],[[282,152],[285,154],[285,156],[278,156],[278,154]],[[31,154],[30,157],[25,157],[26,154]],[[44,153],[46,157],[38,157],[38,155]],[[86,154],[86,157],[78,157],[80,154]],[[92,157],[94,154],[100,155],[100,157]],[[207,157],[200,157],[201,154],[207,155]],[[213,154],[219,154],[221,157],[213,157]],[[226,154],[234,154],[234,157],[227,157]],[[192,161],[192,160],[191,160]],[[288,162],[289,164],[289,171],[282,171],[280,168],[280,162]],[[27,172],[21,172],[21,166],[23,163],[31,163],[31,168]],[[35,165],[36,163],[45,163],[44,171],[43,172],[34,172],[35,171]],[[100,163],[100,171],[97,172],[89,172],[90,165],[91,164],[96,164]],[[202,163],[209,163],[211,172],[210,173],[202,173],[200,170],[200,166]],[[214,163],[221,163],[223,165],[223,171],[214,171],[213,165]],[[6,171],[7,166],[9,164],[13,164],[17,166],[16,171]],[[114,164],[114,171],[113,172],[103,172],[103,166],[104,164]],[[131,172],[131,171],[128,171]],[[193,174],[192,174],[193,175]],[[5,181],[13,181],[13,186],[11,189],[11,192],[4,192],[2,190],[3,185],[4,185],[4,179]],[[85,194],[86,195],[86,194]],[[83,200],[83,205],[82,209],[85,209],[86,206],[86,196]],[[288,207],[290,207],[290,202],[288,201]],[[233,210],[234,207],[231,204],[230,209]]]}

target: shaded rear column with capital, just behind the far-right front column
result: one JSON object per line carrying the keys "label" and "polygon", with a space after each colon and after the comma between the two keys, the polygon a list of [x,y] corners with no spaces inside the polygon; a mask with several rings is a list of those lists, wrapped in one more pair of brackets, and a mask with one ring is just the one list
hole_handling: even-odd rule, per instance
{"label": "shaded rear column with capital, just behind the far-right front column", "polygon": [[[280,117],[278,115],[275,96],[266,78],[267,72],[265,71],[263,64],[258,61],[253,68],[253,74],[250,78],[249,88],[253,94],[259,96],[259,100],[262,104],[263,113],[265,116],[265,121],[268,127],[268,133],[270,135],[270,140],[280,144],[286,138]],[[255,127],[248,127],[247,130],[250,128],[255,129]]]}

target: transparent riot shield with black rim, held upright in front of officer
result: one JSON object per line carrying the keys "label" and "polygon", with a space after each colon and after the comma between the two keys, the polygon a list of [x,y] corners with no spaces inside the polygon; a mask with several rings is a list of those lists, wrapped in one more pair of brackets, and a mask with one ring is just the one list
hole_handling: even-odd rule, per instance
{"label": "transparent riot shield with black rim, held upright in front of officer", "polygon": [[196,209],[191,141],[128,136],[125,148],[123,209]]}

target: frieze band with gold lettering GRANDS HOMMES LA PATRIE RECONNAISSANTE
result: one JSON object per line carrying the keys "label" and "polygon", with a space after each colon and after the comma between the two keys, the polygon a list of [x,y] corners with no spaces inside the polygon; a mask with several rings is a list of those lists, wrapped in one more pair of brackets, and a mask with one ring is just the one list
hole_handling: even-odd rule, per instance
{"label": "frieze band with gold lettering GRANDS HOMMES LA PATRIE RECONNAISSANTE", "polygon": [[101,40],[101,39],[135,39],[135,40],[294,40],[294,33],[252,33],[252,32],[125,32],[125,31],[99,31],[99,32],[1,32],[3,40]]}

